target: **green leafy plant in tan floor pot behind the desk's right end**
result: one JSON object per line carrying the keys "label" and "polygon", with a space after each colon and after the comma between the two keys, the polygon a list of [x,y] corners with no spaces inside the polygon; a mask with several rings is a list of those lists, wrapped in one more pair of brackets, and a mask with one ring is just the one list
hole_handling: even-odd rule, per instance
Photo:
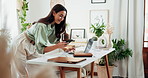
{"label": "green leafy plant in tan floor pot behind the desk's right end", "polygon": [[[115,66],[114,65],[115,61],[123,60],[125,58],[128,58],[129,56],[132,56],[132,50],[126,47],[126,42],[124,39],[120,39],[120,40],[113,39],[112,42],[113,42],[113,48],[115,48],[115,50],[110,54],[108,54],[110,75],[112,74],[113,67]],[[97,64],[97,67],[98,67],[99,78],[107,78],[104,57],[100,59],[99,63]],[[102,76],[105,76],[105,77],[102,77]]]}

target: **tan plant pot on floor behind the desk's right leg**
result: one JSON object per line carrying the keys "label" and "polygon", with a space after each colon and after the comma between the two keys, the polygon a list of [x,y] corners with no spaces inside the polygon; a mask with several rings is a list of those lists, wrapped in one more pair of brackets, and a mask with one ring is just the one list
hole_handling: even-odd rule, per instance
{"label": "tan plant pot on floor behind the desk's right leg", "polygon": [[[113,67],[114,66],[109,66],[110,78],[112,78]],[[97,74],[98,74],[98,78],[108,78],[106,66],[97,65]]]}

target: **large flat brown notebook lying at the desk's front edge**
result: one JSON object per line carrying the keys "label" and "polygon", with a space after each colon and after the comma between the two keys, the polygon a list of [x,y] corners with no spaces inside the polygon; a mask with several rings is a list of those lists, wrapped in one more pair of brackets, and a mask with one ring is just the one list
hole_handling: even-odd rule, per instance
{"label": "large flat brown notebook lying at the desk's front edge", "polygon": [[52,61],[52,62],[69,63],[69,64],[79,63],[84,60],[86,59],[85,58],[73,58],[73,57],[56,57],[56,58],[48,59],[48,61]]}

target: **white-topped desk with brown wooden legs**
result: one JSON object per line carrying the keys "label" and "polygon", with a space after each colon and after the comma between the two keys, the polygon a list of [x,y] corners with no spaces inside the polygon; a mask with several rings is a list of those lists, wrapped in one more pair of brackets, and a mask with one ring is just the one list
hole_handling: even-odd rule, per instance
{"label": "white-topped desk with brown wooden legs", "polygon": [[[54,57],[73,57],[73,55],[68,54],[66,52],[58,52],[58,53],[54,53],[54,54],[48,54],[48,55],[44,55],[43,57],[40,58],[36,58],[36,59],[32,59],[32,60],[28,60],[27,63],[28,64],[48,64],[51,63],[54,66],[59,66],[60,67],[60,73],[61,73],[61,78],[65,78],[65,73],[64,71],[66,70],[73,70],[73,71],[77,71],[77,78],[81,78],[81,68],[83,68],[84,66],[91,64],[91,78],[93,78],[93,71],[94,71],[94,61],[100,59],[103,56],[106,56],[107,54],[109,54],[110,52],[112,52],[114,49],[111,48],[109,50],[90,50],[90,52],[93,54],[93,57],[86,57],[85,61],[76,63],[76,64],[67,64],[67,63],[55,63],[55,62],[47,62],[47,59],[49,58],[54,58]],[[84,58],[84,57],[83,57]],[[109,71],[108,71],[108,60],[107,60],[107,56],[106,56],[106,67],[107,67],[107,73],[108,73],[108,78],[109,78]]]}

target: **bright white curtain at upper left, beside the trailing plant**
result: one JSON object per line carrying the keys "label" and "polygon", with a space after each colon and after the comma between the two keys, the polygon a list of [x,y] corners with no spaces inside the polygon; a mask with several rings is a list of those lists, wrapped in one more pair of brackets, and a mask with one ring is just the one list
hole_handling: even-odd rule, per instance
{"label": "bright white curtain at upper left, beside the trailing plant", "polygon": [[0,30],[7,29],[13,39],[18,34],[16,0],[0,0]]}

